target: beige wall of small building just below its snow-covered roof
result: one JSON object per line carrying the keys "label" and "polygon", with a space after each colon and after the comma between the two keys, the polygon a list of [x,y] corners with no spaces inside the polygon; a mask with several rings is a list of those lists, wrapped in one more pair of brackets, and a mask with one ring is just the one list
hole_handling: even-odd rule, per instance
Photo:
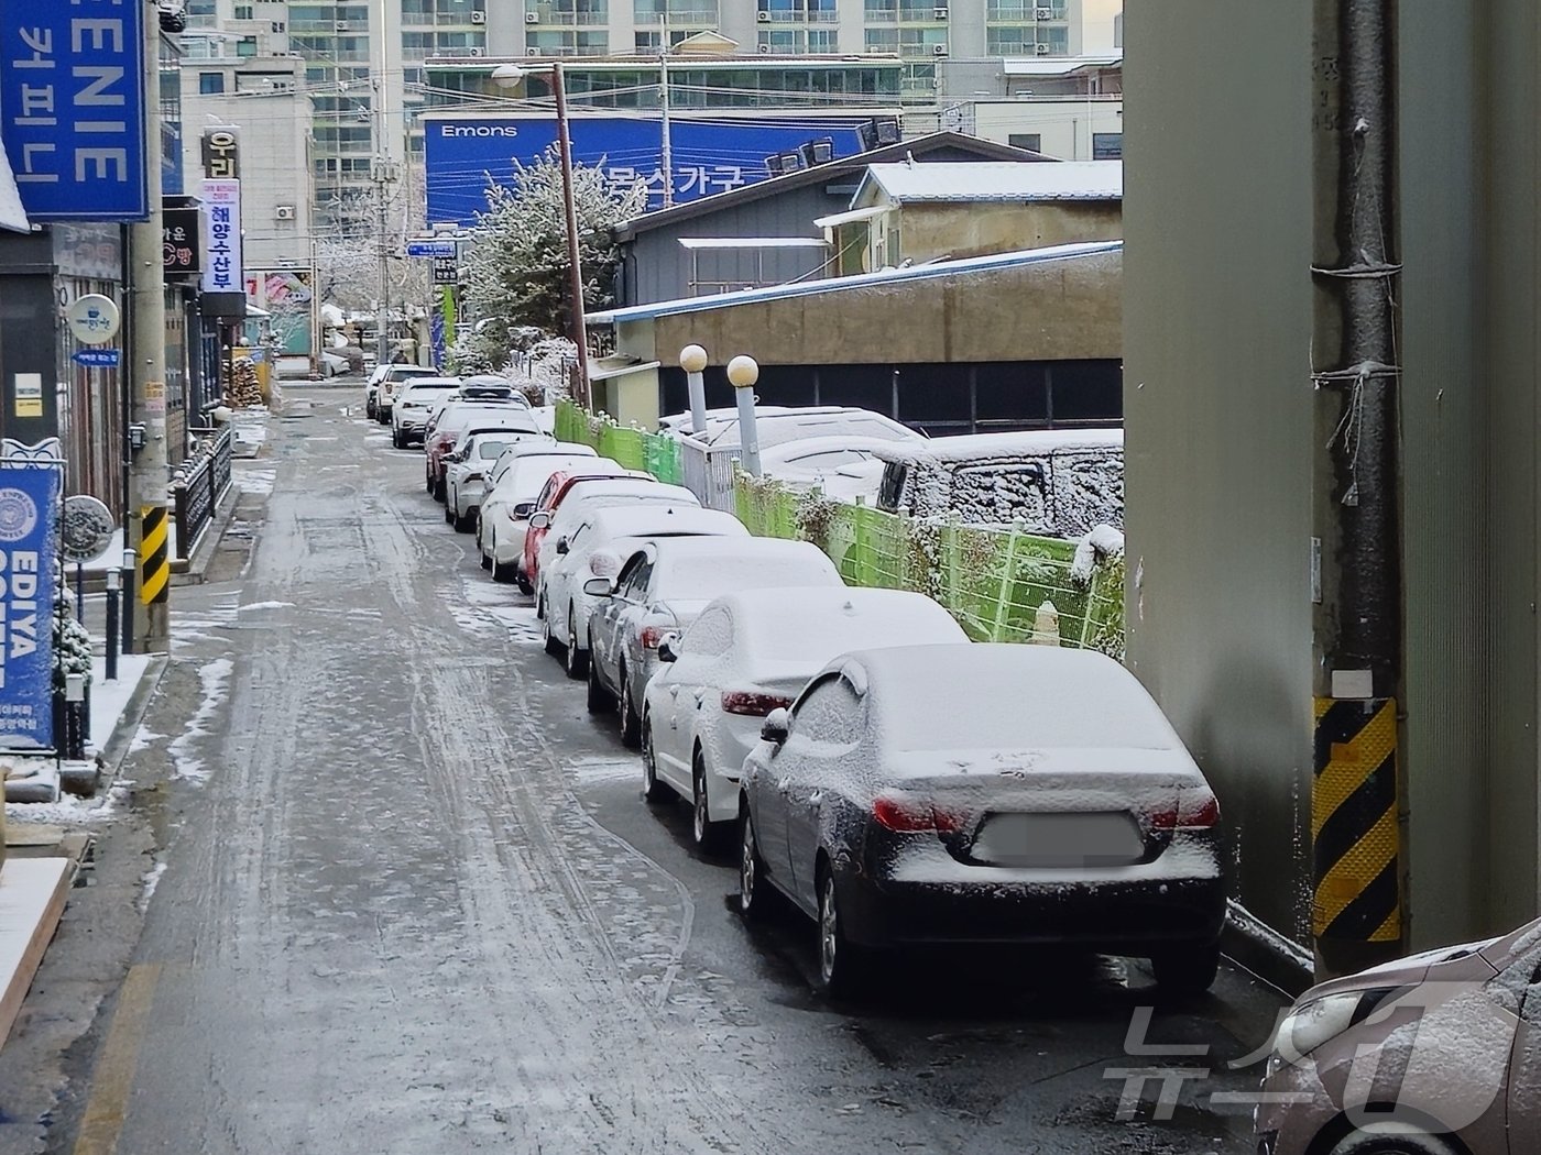
{"label": "beige wall of small building just below its snow-covered roof", "polygon": [[914,202],[889,217],[888,226],[895,225],[898,253],[888,254],[891,265],[1123,237],[1120,205],[1094,200],[1009,205]]}

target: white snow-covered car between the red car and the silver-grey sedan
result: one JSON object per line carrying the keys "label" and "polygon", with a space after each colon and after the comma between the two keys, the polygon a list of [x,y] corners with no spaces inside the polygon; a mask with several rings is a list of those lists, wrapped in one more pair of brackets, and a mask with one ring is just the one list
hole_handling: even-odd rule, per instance
{"label": "white snow-covered car between the red car and the silver-grey sedan", "polygon": [[553,541],[550,562],[541,571],[541,601],[546,605],[541,621],[547,651],[562,656],[569,678],[587,673],[589,614],[593,613],[596,599],[587,591],[586,582],[590,578],[615,578],[621,571],[621,561],[644,541],[747,536],[749,528],[734,514],[703,510],[695,500],[589,504],[572,530]]}

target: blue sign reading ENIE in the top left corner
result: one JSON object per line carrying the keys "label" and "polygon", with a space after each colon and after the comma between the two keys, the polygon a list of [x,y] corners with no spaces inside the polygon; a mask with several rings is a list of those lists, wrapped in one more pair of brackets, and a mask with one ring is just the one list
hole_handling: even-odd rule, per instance
{"label": "blue sign reading ENIE in the top left corner", "polygon": [[0,140],[32,220],[149,216],[146,11],[136,0],[0,6]]}

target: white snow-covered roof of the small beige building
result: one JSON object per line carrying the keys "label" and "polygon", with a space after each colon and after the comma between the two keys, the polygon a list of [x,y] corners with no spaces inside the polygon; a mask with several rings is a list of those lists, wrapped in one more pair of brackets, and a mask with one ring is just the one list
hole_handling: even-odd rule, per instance
{"label": "white snow-covered roof of the small beige building", "polygon": [[1122,200],[1122,160],[1065,160],[1059,165],[972,162],[968,165],[868,165],[851,205],[877,185],[891,200]]}

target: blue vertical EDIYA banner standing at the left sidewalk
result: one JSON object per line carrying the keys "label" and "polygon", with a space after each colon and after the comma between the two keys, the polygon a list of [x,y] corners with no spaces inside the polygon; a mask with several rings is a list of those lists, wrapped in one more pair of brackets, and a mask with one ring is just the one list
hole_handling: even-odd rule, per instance
{"label": "blue vertical EDIYA banner standing at the left sidewalk", "polygon": [[0,748],[54,748],[57,464],[0,464]]}

